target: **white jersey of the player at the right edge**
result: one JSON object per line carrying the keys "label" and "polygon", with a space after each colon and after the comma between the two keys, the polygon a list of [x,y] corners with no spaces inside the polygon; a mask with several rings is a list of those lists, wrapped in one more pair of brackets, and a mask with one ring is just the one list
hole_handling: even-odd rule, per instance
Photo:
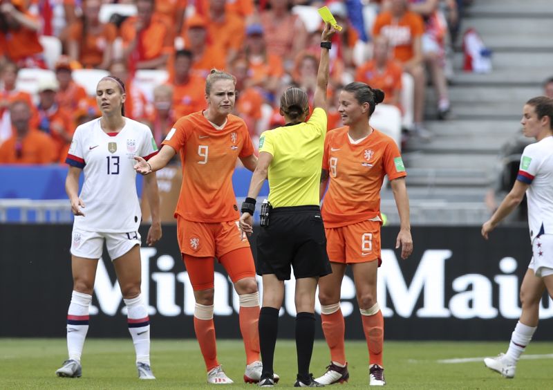
{"label": "white jersey of the player at the right edge", "polygon": [[516,180],[530,185],[526,191],[530,239],[553,234],[553,136],[524,148]]}

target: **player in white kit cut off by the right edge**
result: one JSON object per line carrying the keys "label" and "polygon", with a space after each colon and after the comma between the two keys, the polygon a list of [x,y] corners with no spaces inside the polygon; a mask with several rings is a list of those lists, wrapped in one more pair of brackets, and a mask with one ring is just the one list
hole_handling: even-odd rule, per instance
{"label": "player in white kit cut off by the right edge", "polygon": [[553,99],[540,96],[528,100],[521,124],[524,135],[536,138],[537,142],[525,147],[511,192],[482,225],[482,236],[487,239],[489,232],[521,203],[526,193],[532,260],[521,286],[521,317],[507,353],[484,360],[489,369],[505,378],[514,377],[516,362],[532,340],[545,288],[553,297]]}

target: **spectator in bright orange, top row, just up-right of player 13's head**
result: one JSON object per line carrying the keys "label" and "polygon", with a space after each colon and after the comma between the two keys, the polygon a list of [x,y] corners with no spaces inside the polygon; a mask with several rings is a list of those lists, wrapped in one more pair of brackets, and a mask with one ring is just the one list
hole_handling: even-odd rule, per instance
{"label": "spectator in bright orange, top row, just up-right of player 13's head", "polygon": [[153,0],[135,0],[137,14],[121,25],[123,55],[136,69],[162,69],[173,51],[172,34],[162,21],[153,19]]}

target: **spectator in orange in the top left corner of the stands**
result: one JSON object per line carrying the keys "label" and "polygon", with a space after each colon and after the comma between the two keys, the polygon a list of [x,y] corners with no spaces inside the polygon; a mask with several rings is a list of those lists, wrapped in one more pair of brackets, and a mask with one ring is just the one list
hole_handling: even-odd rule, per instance
{"label": "spectator in orange in the top left corner of the stands", "polygon": [[0,3],[0,53],[21,68],[46,68],[39,42],[39,19],[31,15],[24,0]]}

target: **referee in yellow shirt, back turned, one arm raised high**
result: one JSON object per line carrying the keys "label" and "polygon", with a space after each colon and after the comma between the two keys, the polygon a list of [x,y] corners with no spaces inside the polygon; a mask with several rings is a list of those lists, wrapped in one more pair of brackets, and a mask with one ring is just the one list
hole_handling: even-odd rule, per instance
{"label": "referee in yellow shirt, back turned, one arm raised high", "polygon": [[309,373],[309,364],[315,340],[317,281],[332,272],[319,209],[319,183],[326,135],[328,50],[334,33],[335,29],[327,24],[321,35],[321,61],[314,109],[309,120],[306,122],[309,113],[307,93],[296,87],[286,89],[280,106],[285,126],[261,134],[259,160],[242,205],[240,228],[251,234],[256,198],[261,185],[269,178],[272,210],[268,218],[261,221],[257,237],[256,271],[263,277],[263,307],[259,314],[259,345],[263,361],[260,386],[274,384],[274,346],[284,281],[290,279],[290,265],[296,278],[298,374],[294,386],[322,386]]}

